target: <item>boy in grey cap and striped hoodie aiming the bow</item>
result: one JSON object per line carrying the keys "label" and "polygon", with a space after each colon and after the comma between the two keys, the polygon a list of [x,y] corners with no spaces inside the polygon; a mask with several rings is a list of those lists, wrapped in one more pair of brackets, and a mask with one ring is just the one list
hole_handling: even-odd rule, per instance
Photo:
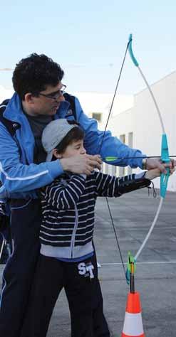
{"label": "boy in grey cap and striped hoodie aiming the bow", "polygon": [[[52,121],[42,135],[46,161],[84,156],[83,137],[83,129],[75,121]],[[73,337],[93,337],[93,294],[98,282],[92,243],[95,200],[147,187],[156,176],[160,176],[159,169],[123,178],[97,171],[90,176],[68,172],[41,189],[41,254],[21,337],[46,336],[63,287]]]}

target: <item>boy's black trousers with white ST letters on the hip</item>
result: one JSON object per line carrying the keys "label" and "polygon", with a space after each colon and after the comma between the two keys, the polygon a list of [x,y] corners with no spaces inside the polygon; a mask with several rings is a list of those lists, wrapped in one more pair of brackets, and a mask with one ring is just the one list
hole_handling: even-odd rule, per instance
{"label": "boy's black trousers with white ST letters on the hip", "polygon": [[53,308],[64,287],[74,337],[93,337],[93,297],[97,282],[95,256],[61,262],[40,255],[21,337],[46,337]]}

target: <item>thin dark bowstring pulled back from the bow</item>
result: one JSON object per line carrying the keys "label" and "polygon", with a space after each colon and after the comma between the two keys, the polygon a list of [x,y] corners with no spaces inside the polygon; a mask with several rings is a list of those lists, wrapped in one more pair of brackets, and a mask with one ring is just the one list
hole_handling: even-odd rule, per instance
{"label": "thin dark bowstring pulled back from the bow", "polygon": [[[115,86],[115,92],[114,92],[114,95],[113,95],[113,100],[111,102],[110,110],[109,110],[109,113],[108,113],[108,119],[107,119],[107,122],[105,124],[105,129],[104,129],[104,132],[103,132],[102,140],[100,142],[100,148],[99,148],[99,151],[98,151],[99,154],[100,154],[100,150],[102,149],[102,146],[103,146],[103,140],[104,140],[104,137],[105,137],[105,132],[106,132],[106,129],[108,127],[108,122],[109,122],[109,119],[110,119],[110,114],[111,114],[112,109],[113,109],[113,103],[114,103],[114,100],[115,100],[115,96],[116,96],[117,91],[118,91],[118,85],[119,85],[120,77],[121,77],[121,74],[122,74],[122,71],[123,71],[123,66],[124,66],[124,63],[125,63],[125,58],[126,58],[126,55],[127,55],[128,46],[129,46],[129,41],[128,41],[128,44],[127,44],[126,49],[125,49],[125,55],[123,57],[123,63],[122,63],[121,68],[120,68],[120,73],[118,75],[118,81],[117,81],[117,84]],[[109,214],[110,214],[110,220],[111,220],[111,224],[113,226],[113,231],[114,231],[114,234],[115,234],[115,241],[116,241],[116,244],[118,246],[118,252],[120,254],[120,260],[121,260],[122,265],[123,265],[123,271],[124,271],[125,279],[126,279],[126,272],[125,272],[125,264],[123,262],[123,255],[122,255],[122,252],[120,250],[120,245],[119,245],[119,241],[118,241],[118,234],[117,234],[117,232],[115,230],[115,225],[114,225],[114,221],[113,221],[113,215],[112,215],[111,210],[110,210],[110,205],[109,205],[108,197],[107,196],[105,197],[105,200],[106,200],[106,203],[108,205],[108,210],[109,210]]]}

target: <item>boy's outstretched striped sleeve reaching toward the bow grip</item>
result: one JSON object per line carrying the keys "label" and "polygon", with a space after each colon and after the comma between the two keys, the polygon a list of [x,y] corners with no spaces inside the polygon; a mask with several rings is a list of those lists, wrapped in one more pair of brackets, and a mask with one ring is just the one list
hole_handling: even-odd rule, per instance
{"label": "boy's outstretched striped sleeve reaching toward the bow grip", "polygon": [[95,172],[97,196],[119,197],[124,193],[150,186],[151,181],[145,176],[131,174],[117,178],[101,172]]}

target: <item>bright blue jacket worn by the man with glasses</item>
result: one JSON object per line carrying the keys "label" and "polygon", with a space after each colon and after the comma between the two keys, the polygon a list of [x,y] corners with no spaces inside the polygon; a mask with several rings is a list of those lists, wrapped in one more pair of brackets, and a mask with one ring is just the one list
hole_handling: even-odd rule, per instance
{"label": "bright blue jacket worn by the man with glasses", "polygon": [[[68,118],[70,104],[66,101],[61,105],[55,115],[55,119]],[[98,130],[95,119],[90,119],[84,114],[81,105],[76,98],[77,121],[85,130],[85,147],[88,154],[98,154],[103,131]],[[59,161],[33,164],[33,149],[35,145],[33,133],[28,119],[23,113],[21,100],[16,93],[13,95],[4,111],[4,117],[21,124],[11,137],[6,127],[0,123],[0,198],[38,198],[37,189],[51,183],[54,178],[63,173]],[[105,156],[143,156],[139,150],[130,149],[121,143],[116,137],[112,137],[109,131],[105,132],[103,146],[100,155]],[[141,166],[141,159],[125,159],[115,161],[114,165],[135,168]]]}

